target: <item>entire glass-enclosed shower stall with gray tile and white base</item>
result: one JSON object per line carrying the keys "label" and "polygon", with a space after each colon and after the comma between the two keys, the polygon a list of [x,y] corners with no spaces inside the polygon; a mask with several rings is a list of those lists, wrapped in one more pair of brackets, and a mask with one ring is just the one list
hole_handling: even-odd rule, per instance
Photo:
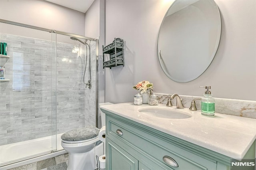
{"label": "entire glass-enclosed shower stall with gray tile and white base", "polygon": [[61,152],[64,132],[98,127],[98,40],[0,20],[0,168]]}

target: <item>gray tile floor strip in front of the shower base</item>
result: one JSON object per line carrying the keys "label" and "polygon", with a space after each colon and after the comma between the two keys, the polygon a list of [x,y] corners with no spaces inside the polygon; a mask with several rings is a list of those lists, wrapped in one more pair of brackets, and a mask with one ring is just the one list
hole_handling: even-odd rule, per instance
{"label": "gray tile floor strip in front of the shower base", "polygon": [[40,160],[31,164],[19,166],[9,170],[66,170],[68,165],[68,153]]}

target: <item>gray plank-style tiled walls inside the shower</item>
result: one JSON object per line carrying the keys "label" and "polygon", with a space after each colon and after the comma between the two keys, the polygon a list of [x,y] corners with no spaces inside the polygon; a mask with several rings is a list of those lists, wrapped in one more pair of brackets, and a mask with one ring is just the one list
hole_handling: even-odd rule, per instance
{"label": "gray plank-style tiled walls inside the shower", "polygon": [[95,125],[96,42],[90,45],[92,89],[82,81],[83,44],[74,54],[74,45],[57,42],[55,55],[51,41],[0,33],[0,42],[8,44],[10,56],[0,58],[10,79],[0,82],[0,145]]}

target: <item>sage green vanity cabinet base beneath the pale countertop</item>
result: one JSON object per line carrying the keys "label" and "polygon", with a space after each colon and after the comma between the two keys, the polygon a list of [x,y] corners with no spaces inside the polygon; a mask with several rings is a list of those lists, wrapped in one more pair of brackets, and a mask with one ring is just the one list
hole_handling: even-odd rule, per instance
{"label": "sage green vanity cabinet base beneath the pale countertop", "polygon": [[[102,109],[106,170],[230,170],[231,158]],[[246,156],[254,156],[255,142]]]}

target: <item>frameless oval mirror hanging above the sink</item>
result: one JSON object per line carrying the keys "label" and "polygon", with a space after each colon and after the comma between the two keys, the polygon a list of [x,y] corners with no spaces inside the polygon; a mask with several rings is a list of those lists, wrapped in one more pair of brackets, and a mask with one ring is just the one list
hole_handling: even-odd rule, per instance
{"label": "frameless oval mirror hanging above the sink", "polygon": [[164,73],[182,83],[199,77],[214,58],[220,32],[214,0],[175,0],[158,34],[158,59]]}

